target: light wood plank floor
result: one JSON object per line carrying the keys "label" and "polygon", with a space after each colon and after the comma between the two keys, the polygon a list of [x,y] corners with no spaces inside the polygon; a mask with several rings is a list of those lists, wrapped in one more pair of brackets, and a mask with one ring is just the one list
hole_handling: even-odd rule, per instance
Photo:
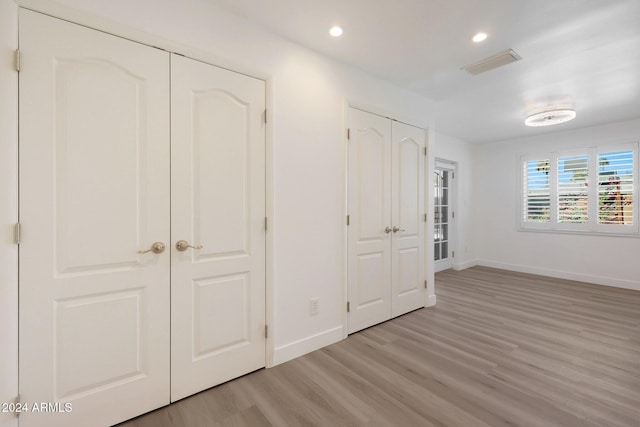
{"label": "light wood plank floor", "polygon": [[474,267],[436,294],[121,427],[640,426],[640,292]]}

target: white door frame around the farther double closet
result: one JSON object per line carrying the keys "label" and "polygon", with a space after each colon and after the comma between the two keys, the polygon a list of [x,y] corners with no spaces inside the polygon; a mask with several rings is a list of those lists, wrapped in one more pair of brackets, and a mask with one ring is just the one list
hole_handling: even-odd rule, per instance
{"label": "white door frame around the farther double closet", "polygon": [[415,124],[410,119],[396,119],[394,117],[400,117],[398,114],[390,113],[388,110],[372,106],[367,103],[360,103],[357,101],[350,101],[345,98],[343,102],[343,149],[344,149],[344,187],[343,187],[343,228],[342,228],[342,248],[343,248],[343,300],[342,300],[342,337],[347,338],[349,336],[348,314],[347,314],[347,301],[349,301],[349,229],[347,225],[347,216],[349,215],[349,108],[355,108],[371,114],[386,117],[390,120],[399,121],[410,126],[419,127],[424,129],[425,132],[425,148],[427,155],[424,156],[424,211],[427,214],[427,222],[425,224],[425,246],[424,246],[424,277],[427,281],[427,292],[425,308],[436,305],[435,295],[435,279],[434,279],[434,265],[433,265],[433,213],[431,209],[431,200],[433,200],[433,186],[431,183],[431,176],[434,170],[435,158],[433,156],[433,141],[434,131],[432,126]]}

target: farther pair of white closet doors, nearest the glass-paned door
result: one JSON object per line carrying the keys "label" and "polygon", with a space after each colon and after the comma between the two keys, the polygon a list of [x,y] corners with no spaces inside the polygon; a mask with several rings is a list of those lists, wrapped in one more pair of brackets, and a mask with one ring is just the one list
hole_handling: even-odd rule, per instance
{"label": "farther pair of white closet doors, nearest the glass-paned door", "polygon": [[424,129],[349,109],[349,333],[425,305],[424,150]]}

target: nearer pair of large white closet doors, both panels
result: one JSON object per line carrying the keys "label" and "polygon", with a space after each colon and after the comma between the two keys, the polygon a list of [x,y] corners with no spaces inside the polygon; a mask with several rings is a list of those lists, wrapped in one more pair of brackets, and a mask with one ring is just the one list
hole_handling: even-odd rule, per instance
{"label": "nearer pair of large white closet doors, both panels", "polygon": [[264,82],[20,11],[22,426],[265,364]]}

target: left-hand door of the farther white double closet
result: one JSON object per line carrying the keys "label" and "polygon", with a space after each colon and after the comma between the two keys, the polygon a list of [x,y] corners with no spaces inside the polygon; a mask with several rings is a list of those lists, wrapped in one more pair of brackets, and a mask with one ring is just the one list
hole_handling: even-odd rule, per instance
{"label": "left-hand door of the farther white double closet", "polygon": [[352,333],[391,318],[391,121],[350,108],[349,128],[347,282]]}

